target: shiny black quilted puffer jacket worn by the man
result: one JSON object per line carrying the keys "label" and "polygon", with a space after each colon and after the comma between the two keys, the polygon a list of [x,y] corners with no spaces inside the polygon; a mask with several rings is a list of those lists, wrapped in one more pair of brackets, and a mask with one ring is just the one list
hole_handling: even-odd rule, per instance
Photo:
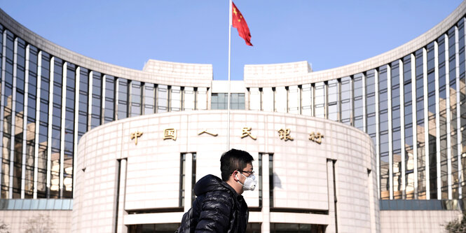
{"label": "shiny black quilted puffer jacket worn by the man", "polygon": [[245,199],[230,185],[213,175],[201,178],[194,186],[196,199],[184,213],[179,233],[246,232],[249,211]]}

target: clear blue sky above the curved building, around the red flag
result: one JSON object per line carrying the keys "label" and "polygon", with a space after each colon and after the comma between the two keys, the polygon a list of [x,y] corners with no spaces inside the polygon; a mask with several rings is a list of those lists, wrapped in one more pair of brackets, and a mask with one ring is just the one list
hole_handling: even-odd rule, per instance
{"label": "clear blue sky above the curved building, around the red flag", "polygon": [[[331,69],[398,47],[449,15],[459,0],[236,0],[254,47],[236,29],[231,79],[245,64],[308,61]],[[148,59],[212,64],[228,79],[228,0],[0,0],[36,34],[103,62],[141,70]]]}

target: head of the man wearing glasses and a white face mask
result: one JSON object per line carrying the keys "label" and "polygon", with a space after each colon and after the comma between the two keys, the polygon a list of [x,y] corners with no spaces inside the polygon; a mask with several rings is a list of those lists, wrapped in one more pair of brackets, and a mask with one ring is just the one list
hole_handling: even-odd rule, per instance
{"label": "head of the man wearing glasses and a white face mask", "polygon": [[221,179],[228,183],[238,194],[247,188],[254,190],[251,183],[256,184],[256,181],[248,181],[245,186],[246,179],[249,177],[254,178],[254,171],[252,167],[252,161],[254,158],[244,150],[231,149],[221,155],[220,158],[220,170]]}

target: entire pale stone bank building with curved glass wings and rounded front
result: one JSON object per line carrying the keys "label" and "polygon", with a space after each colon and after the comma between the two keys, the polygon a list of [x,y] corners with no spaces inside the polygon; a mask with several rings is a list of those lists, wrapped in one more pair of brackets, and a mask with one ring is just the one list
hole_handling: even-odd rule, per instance
{"label": "entire pale stone bank building with curved glass wings and rounded front", "polygon": [[174,232],[229,138],[259,178],[248,232],[441,232],[466,195],[465,16],[334,69],[245,65],[228,113],[210,64],[107,64],[0,10],[0,220]]}

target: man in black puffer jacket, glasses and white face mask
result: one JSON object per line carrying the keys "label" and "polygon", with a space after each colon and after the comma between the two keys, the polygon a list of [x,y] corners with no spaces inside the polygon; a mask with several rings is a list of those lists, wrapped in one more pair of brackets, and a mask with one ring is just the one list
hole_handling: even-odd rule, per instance
{"label": "man in black puffer jacket, glasses and white face mask", "polygon": [[221,155],[221,179],[214,175],[200,178],[194,186],[197,197],[184,213],[178,232],[246,232],[249,211],[241,194],[256,188],[252,160],[243,150]]}

